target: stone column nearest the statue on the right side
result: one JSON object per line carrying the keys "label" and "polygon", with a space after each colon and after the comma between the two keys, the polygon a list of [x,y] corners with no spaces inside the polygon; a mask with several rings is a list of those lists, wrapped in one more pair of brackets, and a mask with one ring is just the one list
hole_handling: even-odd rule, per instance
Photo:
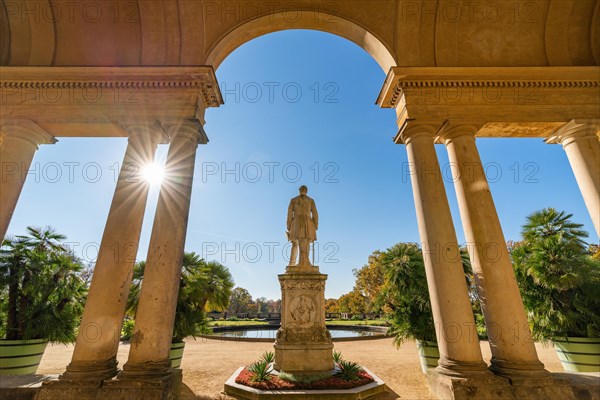
{"label": "stone column nearest the statue on the right side", "polygon": [[419,236],[440,350],[437,371],[464,376],[485,372],[487,365],[479,347],[460,249],[435,152],[434,134],[434,127],[417,125],[406,128],[396,143],[406,145],[410,163]]}

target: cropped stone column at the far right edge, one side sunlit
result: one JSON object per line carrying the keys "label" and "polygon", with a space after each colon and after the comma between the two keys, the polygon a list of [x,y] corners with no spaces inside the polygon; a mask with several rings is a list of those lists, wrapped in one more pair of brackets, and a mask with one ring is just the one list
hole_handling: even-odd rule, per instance
{"label": "cropped stone column at the far right edge, one side sunlit", "polygon": [[571,121],[546,139],[562,144],[579,190],[600,236],[600,138],[598,121]]}

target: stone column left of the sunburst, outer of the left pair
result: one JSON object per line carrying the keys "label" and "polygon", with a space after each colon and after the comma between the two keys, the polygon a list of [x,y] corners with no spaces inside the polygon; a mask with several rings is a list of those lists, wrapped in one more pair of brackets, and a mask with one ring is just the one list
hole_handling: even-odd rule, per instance
{"label": "stone column left of the sunburst, outer of the left pair", "polygon": [[117,374],[121,327],[137,255],[148,182],[143,168],[152,164],[158,143],[166,142],[156,125],[123,125],[129,143],[104,228],[88,300],[67,371],[61,380],[101,381]]}

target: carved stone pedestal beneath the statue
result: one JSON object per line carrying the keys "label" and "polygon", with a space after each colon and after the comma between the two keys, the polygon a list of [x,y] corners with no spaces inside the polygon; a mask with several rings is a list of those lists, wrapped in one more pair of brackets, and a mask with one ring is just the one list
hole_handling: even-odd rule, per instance
{"label": "carved stone pedestal beneath the statue", "polygon": [[333,371],[333,343],[325,326],[325,280],[319,267],[289,266],[279,275],[281,328],[275,369],[296,375]]}

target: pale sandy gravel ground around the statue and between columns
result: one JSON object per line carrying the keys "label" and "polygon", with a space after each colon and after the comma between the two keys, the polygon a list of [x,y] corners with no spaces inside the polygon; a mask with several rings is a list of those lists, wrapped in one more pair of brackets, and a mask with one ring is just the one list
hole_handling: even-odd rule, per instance
{"label": "pale sandy gravel ground around the statue and between columns", "polygon": [[[551,346],[536,344],[540,360],[546,369],[561,372],[562,367]],[[425,377],[419,366],[419,356],[414,342],[396,349],[391,339],[339,342],[335,348],[344,358],[366,366],[388,386],[385,400],[434,399],[427,389]],[[487,342],[481,343],[484,359],[489,360]],[[187,339],[183,368],[183,400],[227,399],[221,391],[223,383],[237,367],[248,365],[265,351],[272,351],[270,343],[225,342],[215,339]],[[48,345],[39,374],[59,374],[69,363],[73,346]],[[119,365],[127,360],[128,344],[119,348]]]}

